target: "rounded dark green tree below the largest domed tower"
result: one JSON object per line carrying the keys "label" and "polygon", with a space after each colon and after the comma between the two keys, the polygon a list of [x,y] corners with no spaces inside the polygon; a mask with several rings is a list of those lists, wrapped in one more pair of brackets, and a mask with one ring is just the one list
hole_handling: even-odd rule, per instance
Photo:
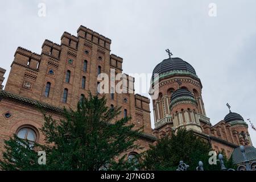
{"label": "rounded dark green tree below the largest domed tower", "polygon": [[[180,129],[176,134],[160,139],[155,146],[150,146],[150,150],[143,154],[141,167],[146,170],[176,170],[182,160],[189,165],[188,170],[196,170],[201,160],[204,170],[220,170],[218,162],[217,165],[209,164],[209,151],[212,148],[206,140],[197,137],[191,130]],[[226,158],[224,161],[227,162]]]}

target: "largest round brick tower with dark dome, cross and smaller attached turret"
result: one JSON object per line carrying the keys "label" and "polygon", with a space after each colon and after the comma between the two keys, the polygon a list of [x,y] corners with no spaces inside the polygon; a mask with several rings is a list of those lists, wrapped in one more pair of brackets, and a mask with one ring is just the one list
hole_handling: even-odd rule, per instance
{"label": "largest round brick tower with dark dome, cross and smaller attached turret", "polygon": [[201,97],[200,78],[191,64],[179,57],[171,57],[168,49],[166,52],[169,58],[157,64],[152,72],[150,93],[159,93],[152,101],[155,128],[186,127],[201,131],[200,119],[209,121],[209,118]]}

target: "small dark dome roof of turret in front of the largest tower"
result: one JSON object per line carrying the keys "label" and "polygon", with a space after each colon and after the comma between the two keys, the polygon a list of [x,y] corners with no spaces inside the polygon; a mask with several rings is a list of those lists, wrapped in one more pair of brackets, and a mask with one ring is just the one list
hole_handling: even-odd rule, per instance
{"label": "small dark dome roof of turret in front of the largest tower", "polygon": [[171,105],[174,104],[177,100],[192,100],[195,101],[195,97],[187,89],[179,88],[172,93],[171,96]]}

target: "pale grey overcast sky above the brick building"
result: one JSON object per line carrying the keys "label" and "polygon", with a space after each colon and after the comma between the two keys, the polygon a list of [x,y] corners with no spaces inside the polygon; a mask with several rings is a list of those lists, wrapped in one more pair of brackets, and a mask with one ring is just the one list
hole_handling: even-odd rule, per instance
{"label": "pale grey overcast sky above the brick building", "polygon": [[[39,3],[46,5],[45,17],[38,15]],[[210,3],[216,4],[216,16],[209,16]],[[196,69],[213,125],[228,114],[226,102],[256,125],[254,0],[9,0],[0,5],[0,67],[7,69],[5,77],[18,46],[40,53],[45,39],[59,44],[64,31],[76,35],[82,24],[112,39],[112,53],[123,57],[125,73],[151,73],[168,58],[164,50],[170,48],[174,57]],[[256,131],[249,126],[249,132],[256,146]]]}

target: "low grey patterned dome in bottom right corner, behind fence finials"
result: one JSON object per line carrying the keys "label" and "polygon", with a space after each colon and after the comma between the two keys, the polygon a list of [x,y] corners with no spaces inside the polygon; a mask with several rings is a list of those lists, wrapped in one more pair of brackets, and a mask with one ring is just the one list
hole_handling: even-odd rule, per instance
{"label": "low grey patterned dome in bottom right corner, behind fence finials", "polygon": [[[247,160],[249,161],[256,160],[256,148],[254,148],[253,146],[245,146],[245,155]],[[234,149],[232,153],[232,158],[234,164],[240,164],[245,162],[240,147]]]}

